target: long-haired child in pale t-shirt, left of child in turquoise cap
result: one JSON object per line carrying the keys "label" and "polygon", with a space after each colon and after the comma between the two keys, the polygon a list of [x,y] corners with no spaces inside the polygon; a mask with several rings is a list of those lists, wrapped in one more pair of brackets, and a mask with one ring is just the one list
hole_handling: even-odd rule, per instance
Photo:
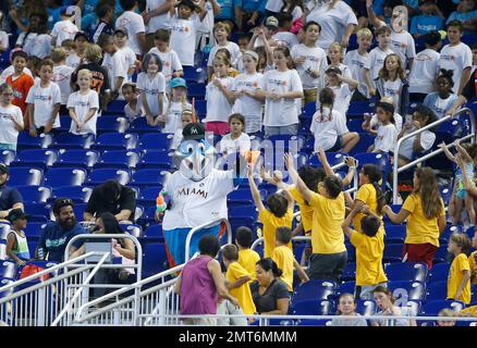
{"label": "long-haired child in pale t-shirt, left of child in turquoise cap", "polygon": [[146,112],[147,123],[151,126],[163,120],[166,112],[166,78],[160,71],[162,63],[154,53],[147,53],[143,59],[143,72],[137,76],[137,89],[140,90],[143,108]]}

